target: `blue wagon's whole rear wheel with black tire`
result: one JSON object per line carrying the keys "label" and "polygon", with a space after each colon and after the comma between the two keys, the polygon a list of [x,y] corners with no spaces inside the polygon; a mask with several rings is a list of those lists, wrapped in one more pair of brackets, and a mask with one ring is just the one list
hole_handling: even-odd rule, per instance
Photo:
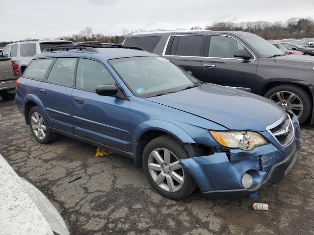
{"label": "blue wagon's whole rear wheel with black tire", "polygon": [[[32,120],[32,116],[34,116],[34,118],[38,122],[36,124],[36,127],[34,127],[35,119]],[[28,123],[30,131],[33,134],[33,137],[36,139],[36,141],[45,144],[55,139],[56,134],[50,130],[48,121],[44,117],[43,112],[38,106],[35,106],[30,109],[28,114]],[[45,127],[46,130],[43,127]],[[41,131],[41,129],[43,130],[43,132]],[[44,135],[42,133],[44,133]]]}

